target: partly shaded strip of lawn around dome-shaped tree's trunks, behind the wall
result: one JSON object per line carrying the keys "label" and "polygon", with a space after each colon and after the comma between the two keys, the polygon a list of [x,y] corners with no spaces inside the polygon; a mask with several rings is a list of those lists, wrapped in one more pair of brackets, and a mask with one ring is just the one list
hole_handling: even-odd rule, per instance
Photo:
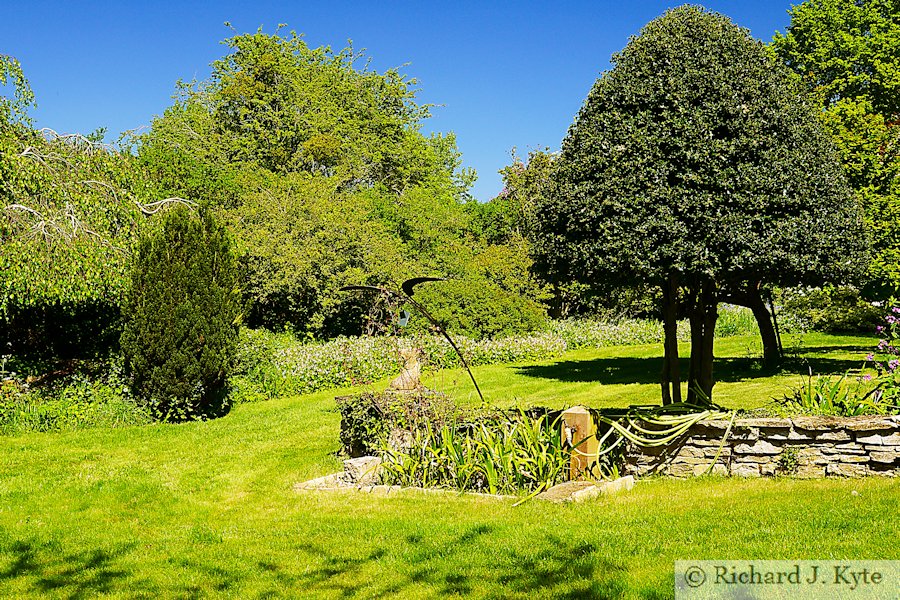
{"label": "partly shaded strip of lawn around dome-shaped tree's trunks, behind the wall", "polygon": [[[798,385],[810,369],[819,374],[843,374],[860,369],[878,340],[866,336],[810,333],[786,336],[787,360],[776,371],[762,366],[759,338],[738,336],[715,342],[713,400],[727,408],[752,409],[780,398]],[[690,345],[680,344],[682,377],[688,372]],[[625,407],[659,404],[661,344],[619,346],[568,352],[560,359],[531,364],[490,365],[473,369],[489,403],[552,407],[584,404]],[[464,371],[437,372],[426,385],[451,394],[462,404],[478,404]],[[686,384],[682,384],[686,392]]]}

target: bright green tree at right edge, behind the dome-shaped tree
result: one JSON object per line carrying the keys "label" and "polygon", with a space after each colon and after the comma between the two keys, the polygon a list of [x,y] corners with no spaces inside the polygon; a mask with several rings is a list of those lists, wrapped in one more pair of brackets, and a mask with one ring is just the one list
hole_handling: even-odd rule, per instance
{"label": "bright green tree at right edge, behind the dome-shaped tree", "polygon": [[772,48],[822,106],[822,118],[873,234],[875,296],[900,295],[900,3],[807,1]]}

